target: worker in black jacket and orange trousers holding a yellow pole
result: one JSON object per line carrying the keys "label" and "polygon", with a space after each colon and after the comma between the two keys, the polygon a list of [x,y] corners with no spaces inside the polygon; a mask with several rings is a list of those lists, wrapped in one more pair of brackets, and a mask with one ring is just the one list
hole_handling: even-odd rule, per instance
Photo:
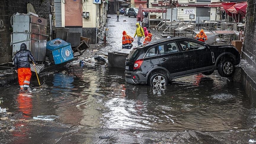
{"label": "worker in black jacket and orange trousers holding a yellow pole", "polygon": [[36,67],[36,60],[32,53],[27,49],[26,44],[20,45],[20,51],[18,51],[14,56],[14,69],[18,73],[18,81],[20,84],[20,89],[27,90],[30,84],[31,70],[30,70],[30,60],[34,62],[34,68]]}

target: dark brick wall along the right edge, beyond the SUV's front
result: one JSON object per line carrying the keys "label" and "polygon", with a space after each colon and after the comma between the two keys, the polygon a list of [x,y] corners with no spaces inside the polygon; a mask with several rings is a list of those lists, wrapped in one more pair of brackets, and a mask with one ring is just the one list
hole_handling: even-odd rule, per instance
{"label": "dark brick wall along the right edge, beyond the SUV's front", "polygon": [[256,67],[256,0],[248,0],[242,58]]}

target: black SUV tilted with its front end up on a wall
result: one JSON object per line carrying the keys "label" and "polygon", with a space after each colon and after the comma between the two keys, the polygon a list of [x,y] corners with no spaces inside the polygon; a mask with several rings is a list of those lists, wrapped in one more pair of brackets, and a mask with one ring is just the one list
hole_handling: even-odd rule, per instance
{"label": "black SUV tilted with its front end up on a wall", "polygon": [[240,55],[234,46],[212,46],[174,37],[134,48],[126,58],[125,80],[131,84],[166,86],[172,79],[197,73],[210,75],[214,70],[229,77],[239,63]]}

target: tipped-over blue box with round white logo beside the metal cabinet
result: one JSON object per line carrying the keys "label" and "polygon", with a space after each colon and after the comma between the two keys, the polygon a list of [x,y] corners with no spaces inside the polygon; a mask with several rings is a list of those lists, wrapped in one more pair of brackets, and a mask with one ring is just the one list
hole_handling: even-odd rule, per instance
{"label": "tipped-over blue box with round white logo beside the metal cabinet", "polygon": [[59,38],[47,42],[46,56],[51,63],[55,64],[61,64],[74,58],[71,44]]}

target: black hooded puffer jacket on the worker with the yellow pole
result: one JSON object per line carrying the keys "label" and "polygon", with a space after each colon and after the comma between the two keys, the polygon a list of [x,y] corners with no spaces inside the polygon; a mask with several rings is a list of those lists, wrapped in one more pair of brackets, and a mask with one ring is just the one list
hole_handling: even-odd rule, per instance
{"label": "black hooded puffer jacket on the worker with the yellow pole", "polygon": [[26,44],[23,43],[20,45],[20,51],[18,51],[14,56],[14,69],[30,68],[29,58],[36,63],[32,53],[27,49]]}

